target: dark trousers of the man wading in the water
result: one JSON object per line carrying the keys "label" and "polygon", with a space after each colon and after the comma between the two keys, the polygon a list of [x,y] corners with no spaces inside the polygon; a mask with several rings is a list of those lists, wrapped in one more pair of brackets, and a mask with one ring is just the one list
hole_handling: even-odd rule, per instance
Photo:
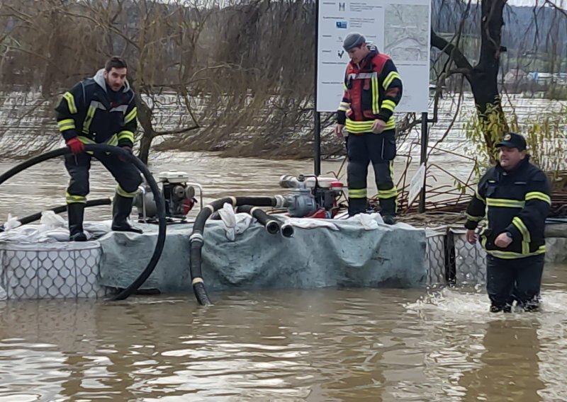
{"label": "dark trousers of the man wading in the water", "polygon": [[511,306],[514,300],[524,309],[539,306],[541,274],[545,254],[525,258],[486,257],[486,290],[490,302],[498,308]]}

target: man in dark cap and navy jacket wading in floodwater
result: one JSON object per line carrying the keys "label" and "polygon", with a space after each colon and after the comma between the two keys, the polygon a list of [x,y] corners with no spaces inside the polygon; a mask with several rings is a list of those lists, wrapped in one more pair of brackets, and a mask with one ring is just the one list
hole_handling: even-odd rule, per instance
{"label": "man in dark cap and navy jacket wading in floodwater", "polygon": [[500,162],[481,178],[466,209],[466,240],[476,243],[476,226],[486,219],[480,237],[487,253],[490,311],[510,312],[514,301],[525,311],[534,311],[540,301],[551,184],[529,163],[520,134],[506,133],[496,147]]}

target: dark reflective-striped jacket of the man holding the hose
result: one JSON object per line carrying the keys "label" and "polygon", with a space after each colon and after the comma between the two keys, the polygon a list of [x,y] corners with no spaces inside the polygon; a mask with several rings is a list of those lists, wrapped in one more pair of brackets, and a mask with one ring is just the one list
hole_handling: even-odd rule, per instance
{"label": "dark reflective-striped jacket of the man holding the hose", "polygon": [[57,126],[65,141],[78,137],[84,144],[131,148],[137,127],[134,92],[128,81],[121,91],[111,91],[103,71],[63,94],[55,108]]}

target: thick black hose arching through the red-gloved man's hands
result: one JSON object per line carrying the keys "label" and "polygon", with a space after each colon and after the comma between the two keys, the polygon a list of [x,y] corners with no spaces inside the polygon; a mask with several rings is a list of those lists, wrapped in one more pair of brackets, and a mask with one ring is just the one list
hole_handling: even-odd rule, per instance
{"label": "thick black hose arching through the red-gloved man's hands", "polygon": [[[142,174],[144,175],[154,195],[157,207],[157,217],[159,219],[159,231],[157,233],[157,241],[155,244],[154,253],[152,254],[152,258],[150,258],[150,262],[147,264],[146,268],[140,273],[140,275],[134,280],[134,282],[132,282],[130,286],[122,289],[120,292],[118,292],[118,294],[115,294],[112,297],[113,300],[124,300],[129,297],[130,294],[133,294],[140,286],[142,286],[147,278],[150,277],[155,269],[155,266],[157,265],[157,262],[159,261],[159,257],[162,255],[166,232],[164,200],[162,199],[162,195],[159,192],[159,188],[157,187],[157,183],[155,182],[152,173],[150,173],[150,171],[147,169],[147,166],[145,166],[145,164],[140,161],[140,159],[137,159],[137,157],[130,152],[120,147],[113,147],[112,145],[106,144],[85,144],[84,149],[85,151],[109,152],[111,154],[121,156],[126,161],[133,163],[134,166],[136,166],[138,170],[140,170],[140,172],[142,172]],[[26,170],[30,166],[34,166],[40,162],[47,161],[47,159],[57,158],[57,156],[63,156],[70,153],[71,150],[67,147],[64,147],[60,149],[54,149],[53,151],[46,152],[45,154],[33,156],[33,158],[30,158],[27,161],[23,161],[22,163],[11,168],[9,171],[3,173],[0,176],[0,185],[17,173]]]}

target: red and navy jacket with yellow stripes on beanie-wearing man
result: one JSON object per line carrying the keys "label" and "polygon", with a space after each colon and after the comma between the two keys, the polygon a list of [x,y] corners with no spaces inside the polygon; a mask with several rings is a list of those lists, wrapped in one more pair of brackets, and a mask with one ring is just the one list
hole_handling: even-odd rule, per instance
{"label": "red and navy jacket with yellow stripes on beanie-wearing man", "polygon": [[386,122],[384,130],[393,130],[394,109],[402,98],[402,80],[392,59],[374,46],[369,49],[359,64],[349,62],[344,74],[337,122],[351,134],[371,132],[376,119]]}

